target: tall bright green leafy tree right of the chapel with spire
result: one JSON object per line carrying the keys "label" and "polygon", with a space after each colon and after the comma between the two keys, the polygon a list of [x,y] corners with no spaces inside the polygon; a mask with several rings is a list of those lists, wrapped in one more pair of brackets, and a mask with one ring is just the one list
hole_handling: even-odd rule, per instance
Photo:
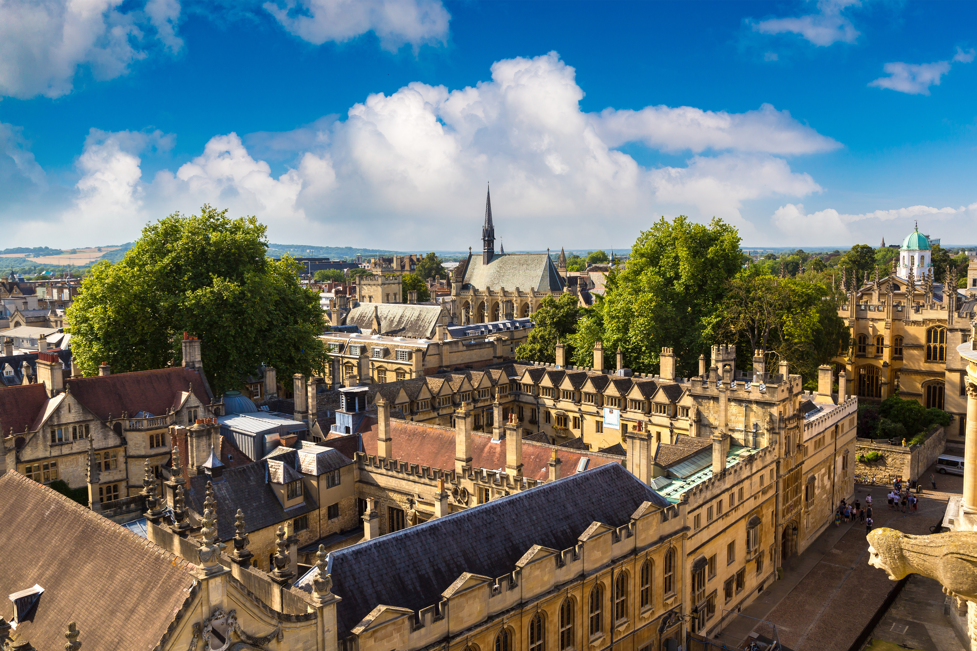
{"label": "tall bright green leafy tree right of the chapel with spire", "polygon": [[638,236],[627,266],[607,276],[600,333],[607,354],[620,347],[628,368],[652,373],[661,347],[668,346],[679,375],[688,377],[699,355],[708,353],[726,282],[739,270],[735,227],[716,219],[662,218]]}

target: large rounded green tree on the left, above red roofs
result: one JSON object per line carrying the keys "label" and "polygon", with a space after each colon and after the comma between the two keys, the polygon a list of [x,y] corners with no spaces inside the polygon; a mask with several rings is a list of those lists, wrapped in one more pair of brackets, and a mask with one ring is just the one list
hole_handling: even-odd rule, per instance
{"label": "large rounded green tree on the left, above red roofs", "polygon": [[148,224],[120,262],[92,267],[67,310],[82,373],[103,361],[123,372],[179,364],[184,332],[203,340],[215,392],[242,387],[262,363],[280,377],[322,373],[319,296],[299,284],[301,264],[267,258],[267,248],[255,218],[207,205]]}

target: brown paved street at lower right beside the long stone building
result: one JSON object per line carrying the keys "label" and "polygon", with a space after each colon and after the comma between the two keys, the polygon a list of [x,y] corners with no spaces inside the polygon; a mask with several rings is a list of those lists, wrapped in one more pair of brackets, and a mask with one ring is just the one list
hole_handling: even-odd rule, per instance
{"label": "brown paved street at lower right beside the long stone building", "polygon": [[[929,484],[931,472],[936,491]],[[854,499],[865,504],[871,493],[876,529],[891,527],[910,534],[929,534],[929,528],[942,521],[950,497],[962,492],[963,477],[937,474],[931,467],[921,478],[923,492],[914,513],[888,509],[885,496],[889,489],[885,486],[856,484]],[[868,556],[864,524],[828,525],[802,554],[787,559],[783,578],[743,609],[745,617],[729,622],[716,641],[735,647],[754,629],[767,634],[768,627],[758,622],[762,620],[775,624],[781,643],[793,651],[848,651],[895,586],[885,572],[869,565]],[[931,605],[910,604],[907,614]],[[930,619],[935,617],[929,615]],[[941,635],[941,642],[952,643],[946,640],[946,635]],[[922,648],[956,651],[953,646]]]}

